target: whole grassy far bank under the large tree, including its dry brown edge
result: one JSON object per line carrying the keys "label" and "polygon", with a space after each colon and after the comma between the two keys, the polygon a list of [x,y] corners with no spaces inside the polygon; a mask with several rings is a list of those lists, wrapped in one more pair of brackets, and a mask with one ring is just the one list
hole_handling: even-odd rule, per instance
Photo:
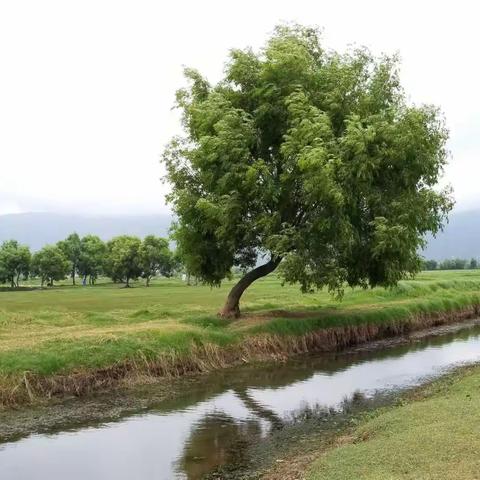
{"label": "whole grassy far bank under the large tree, including its dry brown edge", "polygon": [[338,348],[471,317],[480,304],[478,271],[424,273],[342,302],[267,277],[247,291],[245,315],[225,323],[215,312],[230,286],[1,291],[0,404]]}

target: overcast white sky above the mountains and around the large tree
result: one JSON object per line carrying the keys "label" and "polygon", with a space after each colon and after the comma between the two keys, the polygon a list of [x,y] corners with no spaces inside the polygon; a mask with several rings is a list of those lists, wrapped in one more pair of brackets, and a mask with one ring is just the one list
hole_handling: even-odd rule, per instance
{"label": "overcast white sky above the mountains and around the large tree", "polygon": [[167,211],[182,66],[215,81],[230,48],[282,21],[321,26],[327,47],[400,52],[412,101],[446,115],[458,208],[480,206],[476,3],[0,0],[0,213]]}

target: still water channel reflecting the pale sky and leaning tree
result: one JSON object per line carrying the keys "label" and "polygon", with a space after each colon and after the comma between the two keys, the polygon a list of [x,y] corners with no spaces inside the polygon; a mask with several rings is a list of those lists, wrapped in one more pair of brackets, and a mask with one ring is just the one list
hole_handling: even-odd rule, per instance
{"label": "still water channel reflecting the pale sky and leaning tree", "polygon": [[[359,398],[371,403],[478,361],[480,326],[474,325],[382,349],[231,369],[192,381],[174,400],[115,421],[63,421],[46,433],[0,444],[0,478],[200,479],[234,465],[246,446],[306,416],[328,422]],[[154,396],[158,387],[149,388]],[[143,390],[142,401],[146,394]],[[135,397],[129,401],[135,404]]]}

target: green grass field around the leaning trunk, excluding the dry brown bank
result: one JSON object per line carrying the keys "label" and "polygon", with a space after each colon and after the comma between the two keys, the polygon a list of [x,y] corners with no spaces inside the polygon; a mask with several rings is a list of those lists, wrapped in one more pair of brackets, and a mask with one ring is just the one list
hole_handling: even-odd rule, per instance
{"label": "green grass field around the leaning trunk, excluding the dry brown bank", "polygon": [[[0,390],[31,376],[94,371],[122,362],[150,365],[188,356],[198,347],[235,347],[263,335],[292,337],[328,327],[389,324],[415,315],[480,304],[480,272],[422,273],[393,290],[301,294],[275,276],[245,294],[244,316],[224,322],[216,312],[231,284],[210,289],[160,279],[147,288],[94,287],[0,291]],[[27,386],[28,388],[28,386]],[[5,402],[5,400],[4,400]],[[0,402],[1,403],[1,402]]]}

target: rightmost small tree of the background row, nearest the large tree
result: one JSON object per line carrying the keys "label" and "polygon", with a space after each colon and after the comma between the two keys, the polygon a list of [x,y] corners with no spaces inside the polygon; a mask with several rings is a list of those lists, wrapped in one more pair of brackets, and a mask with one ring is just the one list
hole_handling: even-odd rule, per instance
{"label": "rightmost small tree of the background row, nearest the large tree", "polygon": [[146,286],[157,273],[170,277],[173,272],[172,252],[168,246],[168,240],[147,235],[140,247],[140,261],[142,277],[145,278]]}

